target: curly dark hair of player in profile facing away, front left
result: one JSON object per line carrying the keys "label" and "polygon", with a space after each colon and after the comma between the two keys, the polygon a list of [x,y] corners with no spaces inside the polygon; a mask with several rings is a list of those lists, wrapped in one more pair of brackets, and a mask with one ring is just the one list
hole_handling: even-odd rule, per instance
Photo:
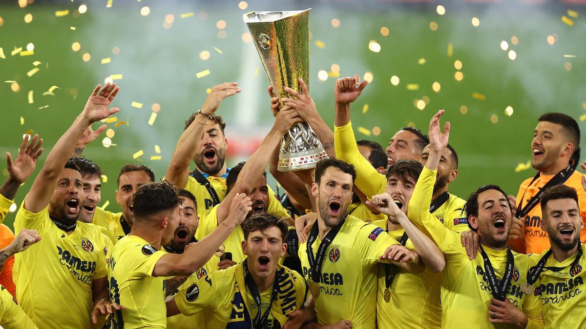
{"label": "curly dark hair of player in profile facing away, front left", "polygon": [[172,183],[159,181],[139,186],[132,203],[136,217],[147,217],[159,211],[172,210],[181,203],[181,198]]}

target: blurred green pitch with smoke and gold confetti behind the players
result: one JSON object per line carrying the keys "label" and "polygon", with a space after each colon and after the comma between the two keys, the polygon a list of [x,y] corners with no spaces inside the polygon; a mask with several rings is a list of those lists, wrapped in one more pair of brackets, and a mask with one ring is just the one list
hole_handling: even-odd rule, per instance
{"label": "blurred green pitch with smoke and gold confetti behind the players", "polygon": [[[23,133],[33,132],[45,139],[38,172],[92,88],[114,78],[121,88],[113,103],[121,112],[108,123],[115,145],[105,148],[103,133],[84,152],[105,171],[100,205],[109,203],[108,210],[120,209],[114,191],[125,163],[163,176],[183,122],[213,85],[237,81],[242,88],[217,112],[227,122],[228,165],[254,152],[272,117],[268,81],[242,20],[248,11],[313,8],[310,94],[331,126],[338,74],[372,78],[352,105],[352,122],[358,139],[385,148],[401,126],[427,132],[431,116],[446,109],[459,154],[450,189],[461,197],[487,183],[516,194],[534,175],[526,164],[539,115],[560,111],[580,122],[586,115],[582,1],[30,2],[0,2],[0,170],[4,153],[16,156]],[[10,227],[14,214],[6,218]]]}

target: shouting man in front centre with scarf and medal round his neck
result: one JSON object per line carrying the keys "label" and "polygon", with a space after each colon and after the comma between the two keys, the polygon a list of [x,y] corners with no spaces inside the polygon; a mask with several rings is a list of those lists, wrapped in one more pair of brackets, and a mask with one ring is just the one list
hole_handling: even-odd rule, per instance
{"label": "shouting man in front centre with scarf and medal round his neck", "polygon": [[315,320],[313,310],[303,308],[304,278],[278,264],[287,252],[287,221],[259,213],[242,226],[247,258],[180,290],[167,300],[167,316],[202,312],[208,328],[282,328],[295,310],[298,324]]}

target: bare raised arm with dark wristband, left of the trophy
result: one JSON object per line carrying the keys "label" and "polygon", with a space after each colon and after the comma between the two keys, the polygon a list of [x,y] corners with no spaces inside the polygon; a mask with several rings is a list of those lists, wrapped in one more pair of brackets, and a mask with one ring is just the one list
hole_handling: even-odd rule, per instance
{"label": "bare raised arm with dark wristband, left of the trophy", "polygon": [[201,114],[197,115],[195,120],[181,134],[165,173],[166,180],[181,189],[185,188],[189,176],[189,163],[191,163],[193,156],[197,152],[197,145],[199,145],[203,133],[206,131],[209,115],[216,112],[224,98],[240,91],[238,83],[214,85],[207,96],[206,102],[203,103],[202,108],[199,110]]}

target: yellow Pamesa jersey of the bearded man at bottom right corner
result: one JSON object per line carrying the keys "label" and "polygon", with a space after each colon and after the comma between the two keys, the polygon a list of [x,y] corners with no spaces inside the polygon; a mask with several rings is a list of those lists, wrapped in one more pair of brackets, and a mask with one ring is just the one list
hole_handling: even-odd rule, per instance
{"label": "yellow Pamesa jersey of the bearded man at bottom right corner", "polygon": [[[586,245],[582,244],[582,257],[573,265],[576,255],[563,262],[556,261],[553,255],[547,259],[547,267],[563,268],[559,272],[544,269],[539,281],[533,285],[534,293],[541,299],[541,309],[546,328],[586,328],[586,295],[584,280],[586,279]],[[541,254],[529,255],[539,262]]]}

